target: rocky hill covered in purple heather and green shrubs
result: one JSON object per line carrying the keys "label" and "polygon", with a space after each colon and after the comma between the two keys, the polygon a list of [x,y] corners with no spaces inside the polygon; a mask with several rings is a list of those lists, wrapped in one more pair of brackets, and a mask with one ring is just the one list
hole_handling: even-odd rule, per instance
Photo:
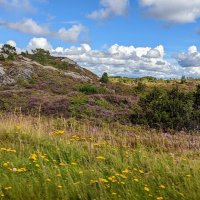
{"label": "rocky hill covered in purple heather and green shrubs", "polygon": [[136,97],[117,90],[68,58],[22,54],[0,61],[2,112],[127,121]]}

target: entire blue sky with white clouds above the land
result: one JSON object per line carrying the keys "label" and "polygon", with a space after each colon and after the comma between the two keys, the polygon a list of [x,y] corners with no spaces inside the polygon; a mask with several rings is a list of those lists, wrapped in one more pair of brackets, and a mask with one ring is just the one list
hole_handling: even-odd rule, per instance
{"label": "entire blue sky with white clouds above the land", "polygon": [[200,77],[200,0],[0,0],[0,45],[94,73]]}

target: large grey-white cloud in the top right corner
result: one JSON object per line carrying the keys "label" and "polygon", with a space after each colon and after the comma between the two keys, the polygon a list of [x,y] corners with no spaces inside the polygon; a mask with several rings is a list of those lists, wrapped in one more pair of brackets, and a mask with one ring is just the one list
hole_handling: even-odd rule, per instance
{"label": "large grey-white cloud in the top right corner", "polygon": [[145,12],[153,18],[172,23],[191,23],[200,17],[199,0],[139,0]]}

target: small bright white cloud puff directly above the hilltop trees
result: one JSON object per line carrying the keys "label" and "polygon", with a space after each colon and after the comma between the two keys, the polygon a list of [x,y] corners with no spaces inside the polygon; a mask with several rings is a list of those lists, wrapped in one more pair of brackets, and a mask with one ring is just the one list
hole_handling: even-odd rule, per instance
{"label": "small bright white cloud puff directly above the hilltop trees", "polygon": [[47,41],[46,38],[33,38],[28,43],[28,50],[34,50],[37,48],[45,49],[45,50],[52,50],[51,44]]}

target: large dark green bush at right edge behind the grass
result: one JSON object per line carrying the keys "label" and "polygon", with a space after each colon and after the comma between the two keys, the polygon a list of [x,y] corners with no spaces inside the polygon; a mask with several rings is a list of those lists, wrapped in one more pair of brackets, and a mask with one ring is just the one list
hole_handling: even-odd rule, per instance
{"label": "large dark green bush at right edge behind the grass", "polygon": [[198,91],[194,98],[192,93],[181,92],[178,88],[169,91],[155,88],[140,98],[140,109],[134,110],[132,121],[165,130],[199,129],[200,120],[195,109],[199,103]]}

